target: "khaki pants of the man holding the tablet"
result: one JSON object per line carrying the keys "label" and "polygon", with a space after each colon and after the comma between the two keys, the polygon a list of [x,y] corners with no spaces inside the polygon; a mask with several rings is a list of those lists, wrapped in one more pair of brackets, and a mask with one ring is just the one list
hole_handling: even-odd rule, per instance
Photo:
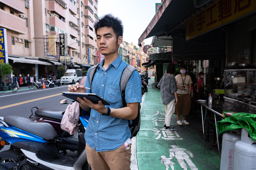
{"label": "khaki pants of the man holding the tablet", "polygon": [[86,144],[85,151],[88,164],[92,170],[131,170],[131,145],[128,150],[123,144],[113,151],[96,152]]}

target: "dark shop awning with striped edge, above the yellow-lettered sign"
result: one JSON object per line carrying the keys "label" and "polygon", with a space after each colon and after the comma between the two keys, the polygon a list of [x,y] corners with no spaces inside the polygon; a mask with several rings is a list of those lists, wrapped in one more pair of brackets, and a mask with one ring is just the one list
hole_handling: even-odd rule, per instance
{"label": "dark shop awning with striped edge, above the yellow-lettered sign", "polygon": [[155,35],[169,36],[169,30],[196,10],[192,0],[165,0],[141,34],[138,45],[141,46],[142,41]]}

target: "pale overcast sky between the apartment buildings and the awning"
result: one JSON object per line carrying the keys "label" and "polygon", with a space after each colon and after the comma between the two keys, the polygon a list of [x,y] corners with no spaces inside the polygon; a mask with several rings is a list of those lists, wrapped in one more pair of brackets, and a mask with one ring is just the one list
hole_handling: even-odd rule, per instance
{"label": "pale overcast sky between the apartment buildings and the awning", "polygon": [[[156,3],[161,0],[98,0],[98,16],[112,13],[120,18],[124,25],[126,42],[133,42],[138,47],[138,39],[147,28],[156,13]],[[145,45],[152,42],[150,37],[144,40]]]}

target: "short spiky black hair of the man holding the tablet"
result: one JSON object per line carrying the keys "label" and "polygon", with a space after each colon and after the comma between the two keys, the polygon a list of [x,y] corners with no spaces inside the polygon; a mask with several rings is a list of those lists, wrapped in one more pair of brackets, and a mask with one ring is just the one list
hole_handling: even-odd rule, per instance
{"label": "short spiky black hair of the man holding the tablet", "polygon": [[114,33],[116,34],[116,44],[117,39],[119,36],[123,36],[124,33],[124,26],[118,17],[114,17],[112,14],[106,14],[103,17],[100,17],[98,21],[96,21],[93,25],[95,29],[95,33],[97,34],[97,30],[101,27],[111,27],[114,30]]}

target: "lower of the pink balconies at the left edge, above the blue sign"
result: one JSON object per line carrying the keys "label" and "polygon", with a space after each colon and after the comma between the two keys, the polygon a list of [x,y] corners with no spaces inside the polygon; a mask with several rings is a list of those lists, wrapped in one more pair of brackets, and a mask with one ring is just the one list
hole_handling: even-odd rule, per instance
{"label": "lower of the pink balconies at the left edge, above the blue sign", "polygon": [[[24,5],[24,4],[23,4]],[[16,31],[19,34],[26,34],[26,21],[20,17],[12,15],[9,12],[0,10],[0,26],[12,31]]]}

